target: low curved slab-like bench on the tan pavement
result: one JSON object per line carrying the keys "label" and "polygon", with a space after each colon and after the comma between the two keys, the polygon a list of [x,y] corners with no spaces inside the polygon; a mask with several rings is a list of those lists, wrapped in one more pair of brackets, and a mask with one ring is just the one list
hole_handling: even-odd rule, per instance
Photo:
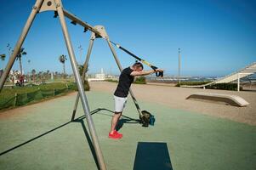
{"label": "low curved slab-like bench on the tan pavement", "polygon": [[213,101],[224,102],[226,104],[235,105],[235,106],[239,106],[239,107],[244,107],[244,106],[249,105],[249,103],[245,99],[242,99],[239,96],[230,95],[230,94],[197,93],[197,94],[191,94],[186,99],[213,100]]}

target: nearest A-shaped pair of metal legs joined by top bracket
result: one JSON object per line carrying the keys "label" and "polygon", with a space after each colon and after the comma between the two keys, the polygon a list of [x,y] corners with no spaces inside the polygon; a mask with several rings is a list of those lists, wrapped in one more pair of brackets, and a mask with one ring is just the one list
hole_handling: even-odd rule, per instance
{"label": "nearest A-shaped pair of metal legs joined by top bracket", "polygon": [[[41,10],[41,8],[42,8],[42,10]],[[100,143],[99,143],[96,131],[95,131],[94,122],[93,122],[92,116],[90,114],[90,110],[89,110],[89,106],[88,106],[88,99],[86,98],[86,94],[85,94],[84,88],[83,88],[83,83],[82,83],[82,80],[81,80],[81,77],[79,75],[79,71],[77,68],[77,60],[75,58],[75,54],[74,54],[74,50],[73,50],[73,47],[71,44],[71,38],[69,36],[68,29],[66,27],[65,12],[64,12],[61,0],[37,0],[36,1],[35,5],[33,6],[32,10],[31,10],[31,14],[29,15],[29,17],[26,21],[26,25],[24,26],[23,31],[21,32],[20,38],[19,38],[18,42],[16,42],[16,45],[14,48],[14,53],[11,55],[9,62],[3,72],[1,79],[0,79],[0,92],[2,91],[3,84],[9,75],[9,71],[11,70],[12,66],[14,65],[14,60],[16,59],[16,56],[17,56],[18,52],[20,51],[20,48],[26,38],[28,31],[30,30],[33,20],[36,18],[36,15],[38,13],[43,12],[43,11],[48,11],[48,10],[57,11],[57,14],[59,15],[60,25],[61,25],[61,28],[63,31],[63,36],[65,38],[65,45],[66,45],[69,57],[71,59],[72,70],[73,70],[73,73],[74,73],[74,76],[75,76],[75,79],[77,82],[78,93],[79,93],[80,99],[82,101],[82,108],[83,108],[84,114],[86,116],[86,121],[88,123],[90,137],[94,144],[94,150],[95,150],[95,154],[97,157],[97,161],[99,163],[100,169],[105,170],[106,169],[105,161],[104,161],[104,158],[102,155],[102,151],[100,149]]]}

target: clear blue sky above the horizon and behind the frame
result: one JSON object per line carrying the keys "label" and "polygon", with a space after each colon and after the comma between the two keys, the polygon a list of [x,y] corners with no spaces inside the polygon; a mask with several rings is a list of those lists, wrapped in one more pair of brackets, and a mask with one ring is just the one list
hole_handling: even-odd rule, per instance
{"label": "clear blue sky above the horizon and behind the frame", "polygon": [[[14,47],[34,3],[34,0],[1,0],[0,54],[8,54],[8,42]],[[255,0],[63,0],[62,3],[90,25],[105,26],[112,41],[165,69],[169,75],[178,74],[178,48],[181,48],[183,76],[222,76],[256,61]],[[62,71],[58,58],[60,54],[67,55],[67,51],[59,18],[53,16],[53,12],[38,14],[31,26],[23,45],[27,52],[22,59],[26,72]],[[83,33],[81,26],[66,21],[77,61],[82,63],[90,32]],[[79,45],[83,48],[82,57]],[[117,54],[123,67],[134,63],[119,49]],[[1,67],[6,63],[7,59],[1,61]],[[66,67],[71,73],[69,60]],[[15,62],[14,69],[18,68]],[[99,72],[100,68],[107,73],[118,73],[106,42],[97,39],[89,72]]]}

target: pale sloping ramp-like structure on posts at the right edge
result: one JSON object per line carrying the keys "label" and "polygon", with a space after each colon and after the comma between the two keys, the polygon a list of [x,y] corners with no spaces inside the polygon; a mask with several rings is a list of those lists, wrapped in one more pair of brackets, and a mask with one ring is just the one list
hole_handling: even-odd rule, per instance
{"label": "pale sloping ramp-like structure on posts at the right edge", "polygon": [[245,68],[243,68],[240,71],[236,71],[231,73],[228,76],[225,77],[221,77],[218,80],[215,80],[213,82],[209,82],[207,84],[203,84],[203,85],[196,85],[196,86],[181,86],[183,88],[205,88],[209,85],[213,85],[213,84],[218,84],[218,83],[228,83],[228,82],[233,82],[237,80],[237,91],[239,91],[240,89],[240,79],[243,77],[247,77],[250,76],[252,74],[256,73],[256,62],[253,62],[250,65],[247,65]]}

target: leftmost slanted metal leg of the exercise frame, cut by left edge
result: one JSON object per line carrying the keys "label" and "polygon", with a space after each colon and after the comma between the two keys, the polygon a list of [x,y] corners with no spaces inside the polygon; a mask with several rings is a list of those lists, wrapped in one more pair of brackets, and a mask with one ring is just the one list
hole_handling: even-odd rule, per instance
{"label": "leftmost slanted metal leg of the exercise frame, cut by left edge", "polygon": [[20,51],[20,48],[26,38],[26,35],[32,25],[33,20],[35,19],[37,12],[39,11],[39,9],[41,8],[43,4],[43,0],[37,0],[37,2],[35,3],[34,7],[32,8],[31,14],[29,15],[28,19],[26,20],[26,25],[24,26],[21,34],[20,34],[20,38],[18,40],[18,42],[16,42],[16,45],[14,47],[14,52],[12,54],[12,56],[9,58],[9,62],[5,67],[5,70],[3,71],[3,75],[0,79],[0,92],[3,89],[3,85],[4,82],[6,81],[8,75],[9,75],[9,71],[12,69],[13,65],[14,65],[14,61],[16,59],[17,54]]}

